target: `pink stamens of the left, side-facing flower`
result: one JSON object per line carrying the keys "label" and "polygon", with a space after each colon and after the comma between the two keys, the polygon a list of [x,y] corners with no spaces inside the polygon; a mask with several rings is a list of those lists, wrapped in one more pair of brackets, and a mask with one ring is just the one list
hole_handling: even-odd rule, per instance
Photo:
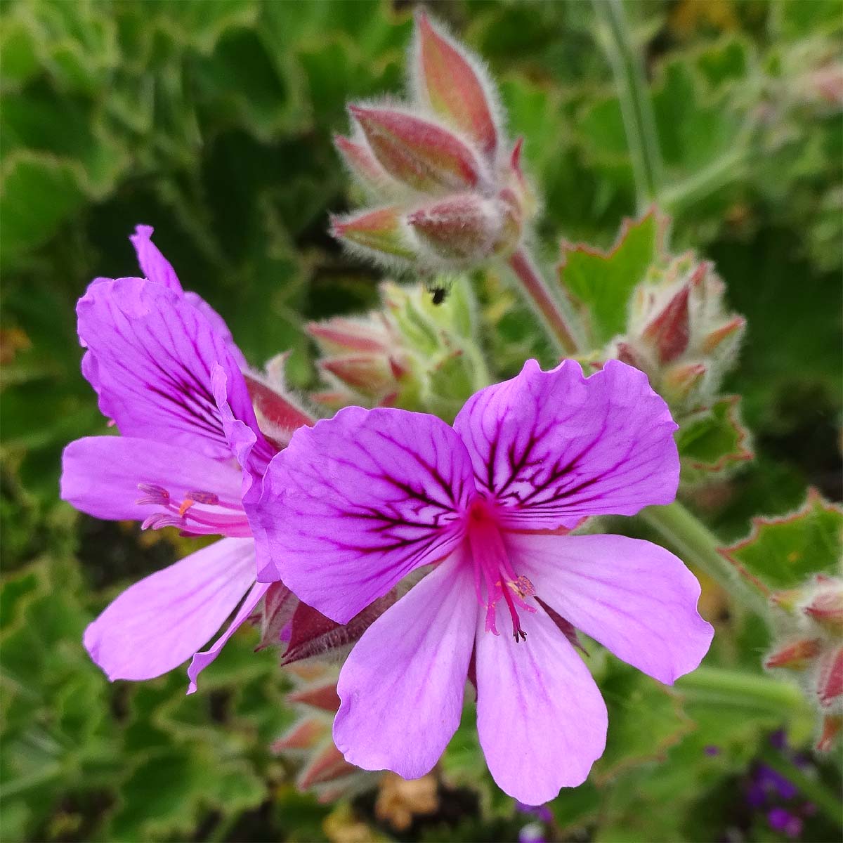
{"label": "pink stamens of the left, side-facing flower", "polygon": [[141,529],[178,527],[185,533],[251,535],[243,508],[221,501],[212,491],[189,491],[178,501],[164,486],[138,483],[137,489],[143,494],[136,503],[158,507],[144,519]]}

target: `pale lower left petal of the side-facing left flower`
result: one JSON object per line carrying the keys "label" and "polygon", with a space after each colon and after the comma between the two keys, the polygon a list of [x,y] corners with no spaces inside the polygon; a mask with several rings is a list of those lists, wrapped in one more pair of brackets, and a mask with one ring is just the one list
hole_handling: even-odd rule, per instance
{"label": "pale lower left petal of the side-facing left flower", "polygon": [[153,679],[177,668],[219,629],[255,582],[251,539],[221,539],[150,574],[85,630],[109,679]]}

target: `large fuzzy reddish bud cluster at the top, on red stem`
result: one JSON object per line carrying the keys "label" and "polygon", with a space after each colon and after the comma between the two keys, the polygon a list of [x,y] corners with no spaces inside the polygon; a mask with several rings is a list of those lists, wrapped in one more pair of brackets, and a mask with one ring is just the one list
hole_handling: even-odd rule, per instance
{"label": "large fuzzy reddish bud cluster at the top, on red stem", "polygon": [[349,106],[336,147],[375,207],[335,217],[333,234],[394,268],[510,255],[534,201],[481,62],[419,13],[410,78],[408,103]]}

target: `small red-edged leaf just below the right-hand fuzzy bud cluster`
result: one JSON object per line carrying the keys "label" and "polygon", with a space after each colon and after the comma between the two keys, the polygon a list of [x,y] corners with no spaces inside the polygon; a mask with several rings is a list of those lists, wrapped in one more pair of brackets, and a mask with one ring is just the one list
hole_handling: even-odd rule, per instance
{"label": "small red-edged leaf just below the right-hand fuzzy bud cluster", "polygon": [[740,396],[728,395],[683,421],[676,437],[687,484],[722,476],[749,459],[749,431],[740,418]]}

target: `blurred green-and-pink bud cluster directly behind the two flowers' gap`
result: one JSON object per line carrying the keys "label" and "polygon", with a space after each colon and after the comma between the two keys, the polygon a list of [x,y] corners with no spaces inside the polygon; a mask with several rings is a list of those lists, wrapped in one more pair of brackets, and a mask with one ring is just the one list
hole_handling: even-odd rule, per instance
{"label": "blurred green-and-pink bud cluster directly behind the two flowers' gap", "polygon": [[308,325],[328,387],[311,399],[330,410],[366,404],[453,417],[486,378],[469,283],[452,282],[439,304],[423,285],[384,282],[380,292],[380,310]]}

